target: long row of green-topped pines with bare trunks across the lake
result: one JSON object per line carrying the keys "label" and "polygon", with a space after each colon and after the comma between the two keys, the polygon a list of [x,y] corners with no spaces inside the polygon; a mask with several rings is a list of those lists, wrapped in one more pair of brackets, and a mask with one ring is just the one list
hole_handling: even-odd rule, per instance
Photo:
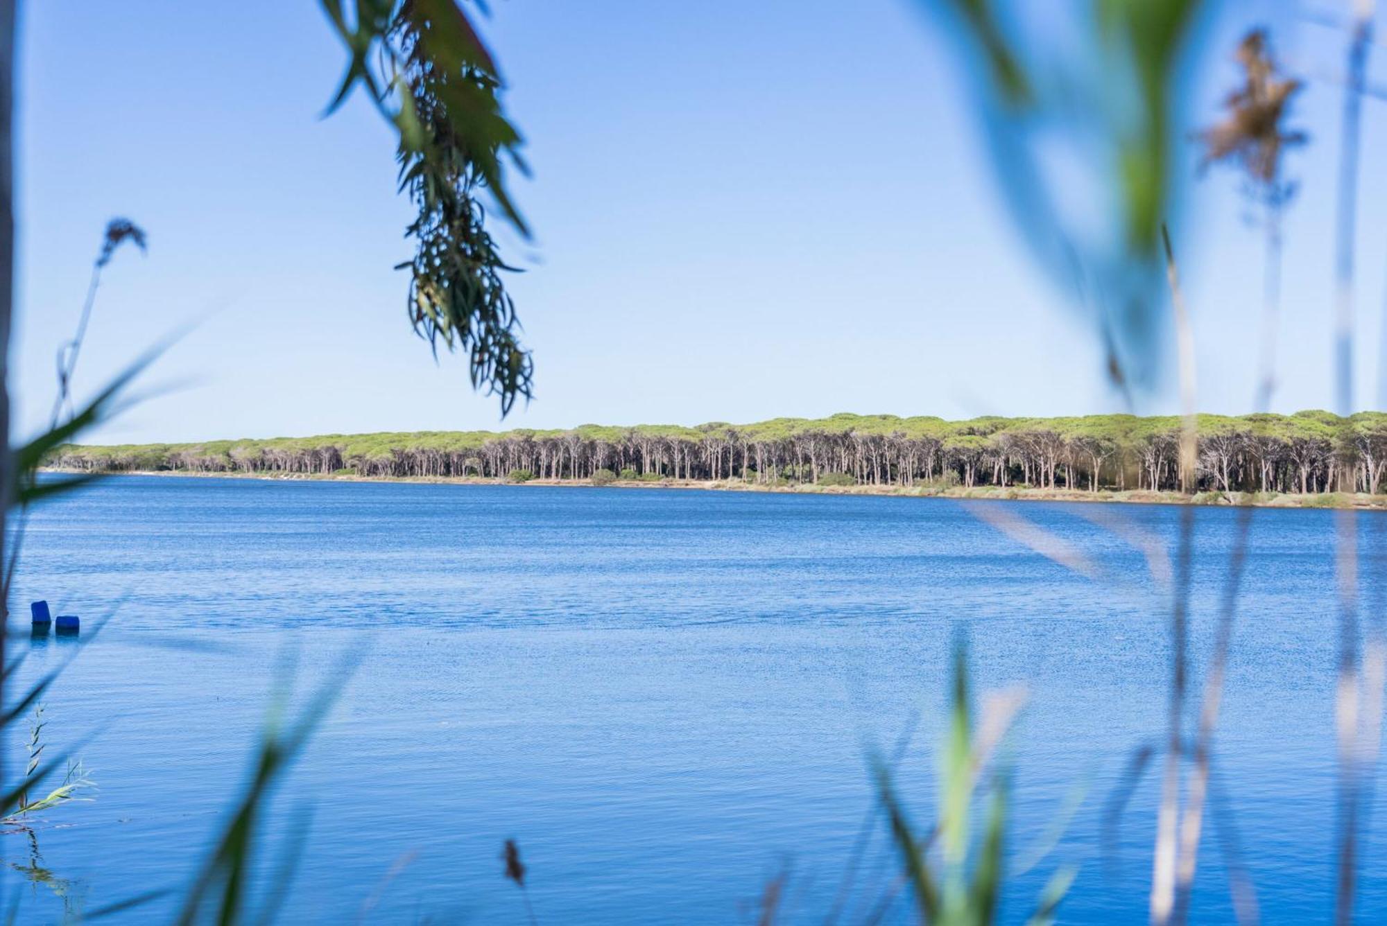
{"label": "long row of green-topped pines with bare trunks across the lake", "polygon": [[[1387,414],[1327,412],[1198,416],[1198,453],[1182,477],[1179,419],[835,414],[757,424],[569,431],[327,434],[58,448],[49,466],[190,471],[599,481],[745,480],[760,484],[957,484],[1069,489],[1372,492],[1387,467]],[[1193,484],[1190,484],[1193,482]]]}

